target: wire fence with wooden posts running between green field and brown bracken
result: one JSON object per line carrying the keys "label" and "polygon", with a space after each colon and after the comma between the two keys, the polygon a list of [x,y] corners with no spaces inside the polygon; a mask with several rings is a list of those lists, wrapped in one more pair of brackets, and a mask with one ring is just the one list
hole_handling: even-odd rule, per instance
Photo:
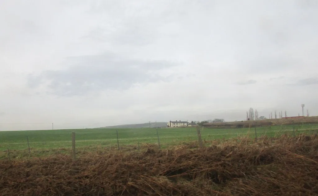
{"label": "wire fence with wooden posts running between green field and brown bracken", "polygon": [[[48,154],[70,153],[75,158],[77,150],[94,151],[96,148],[140,152],[143,147],[167,148],[190,142],[204,147],[206,141],[240,137],[296,137],[301,133],[318,135],[318,124],[275,125],[249,128],[94,128],[44,131],[0,132],[0,158],[14,159],[38,157]],[[204,144],[203,144],[203,141]],[[76,144],[76,148],[75,148]]]}

